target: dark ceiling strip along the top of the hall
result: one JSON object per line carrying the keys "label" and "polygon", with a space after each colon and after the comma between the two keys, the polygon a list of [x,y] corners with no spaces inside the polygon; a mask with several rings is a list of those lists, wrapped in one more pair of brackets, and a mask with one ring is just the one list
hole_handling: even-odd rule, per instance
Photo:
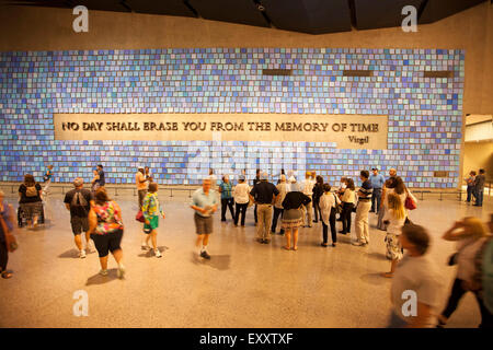
{"label": "dark ceiling strip along the top of the hall", "polygon": [[19,0],[9,4],[168,14],[310,34],[400,26],[405,5],[419,24],[433,23],[488,0]]}

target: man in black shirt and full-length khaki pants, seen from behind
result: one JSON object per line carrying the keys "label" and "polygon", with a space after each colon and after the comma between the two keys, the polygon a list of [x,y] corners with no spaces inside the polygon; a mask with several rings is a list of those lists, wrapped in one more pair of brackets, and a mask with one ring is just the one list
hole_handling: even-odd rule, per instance
{"label": "man in black shirt and full-length khaki pants, seen from behind", "polygon": [[250,198],[257,206],[259,224],[256,226],[256,237],[259,243],[271,242],[271,219],[272,206],[276,201],[279,190],[267,182],[267,173],[263,172],[260,182],[250,191]]}

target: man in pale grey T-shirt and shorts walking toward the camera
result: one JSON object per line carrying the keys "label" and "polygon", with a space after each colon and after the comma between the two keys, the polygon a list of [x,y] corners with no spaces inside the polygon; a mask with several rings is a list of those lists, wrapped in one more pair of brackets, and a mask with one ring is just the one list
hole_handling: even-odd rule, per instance
{"label": "man in pale grey T-shirt and shorts walking toward the camera", "polygon": [[207,243],[209,235],[213,233],[213,214],[217,210],[218,198],[217,192],[210,189],[210,178],[205,178],[202,188],[198,188],[192,197],[191,208],[195,210],[194,221],[197,233],[196,246],[200,248],[200,256],[204,259],[210,259],[207,254]]}

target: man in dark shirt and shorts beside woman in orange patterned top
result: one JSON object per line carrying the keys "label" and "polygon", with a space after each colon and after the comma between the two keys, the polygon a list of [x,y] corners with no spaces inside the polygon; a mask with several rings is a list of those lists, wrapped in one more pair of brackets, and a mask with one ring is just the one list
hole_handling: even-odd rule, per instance
{"label": "man in dark shirt and shorts beside woman in orange patterned top", "polygon": [[[65,195],[65,207],[70,211],[70,223],[72,225],[72,232],[77,248],[79,249],[79,257],[85,258],[85,253],[91,253],[91,237],[89,235],[89,211],[93,205],[92,192],[89,189],[83,188],[84,180],[81,177],[77,177],[73,180],[74,189],[68,191]],[[85,233],[85,249],[82,247],[81,233]]]}

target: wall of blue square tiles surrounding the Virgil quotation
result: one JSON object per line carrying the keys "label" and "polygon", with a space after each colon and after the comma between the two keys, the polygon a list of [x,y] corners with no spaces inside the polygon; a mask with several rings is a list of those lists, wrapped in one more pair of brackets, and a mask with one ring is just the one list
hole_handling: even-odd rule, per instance
{"label": "wall of blue square tiles surrounding the Virgil quotation", "polygon": [[[252,178],[261,167],[325,180],[359,170],[397,167],[410,187],[458,185],[465,52],[457,49],[197,48],[0,52],[0,180],[91,178],[134,183],[137,164],[158,183],[197,184],[217,174]],[[290,77],[262,69],[293,69]],[[369,69],[372,77],[343,77]],[[451,79],[424,78],[452,70]],[[387,150],[336,149],[328,142],[57,141],[54,113],[294,113],[389,116]],[[241,116],[238,116],[241,118]],[[449,177],[435,178],[434,171]]]}

